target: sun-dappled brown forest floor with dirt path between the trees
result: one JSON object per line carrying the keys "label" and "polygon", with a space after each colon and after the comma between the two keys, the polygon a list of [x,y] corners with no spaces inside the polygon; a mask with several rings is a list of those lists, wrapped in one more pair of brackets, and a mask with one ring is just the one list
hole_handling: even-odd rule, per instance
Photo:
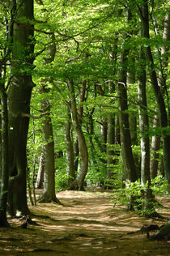
{"label": "sun-dappled brown forest floor with dirt path between the trees", "polygon": [[[11,220],[11,228],[0,228],[0,255],[62,256],[159,256],[170,255],[170,241],[150,241],[138,232],[143,225],[161,226],[167,220],[139,217],[125,207],[113,207],[112,192],[100,190],[62,191],[63,205],[38,203],[30,207],[39,225]],[[159,213],[170,219],[170,198],[159,197]],[[49,216],[49,218],[47,218]],[[151,233],[150,233],[151,234]]]}

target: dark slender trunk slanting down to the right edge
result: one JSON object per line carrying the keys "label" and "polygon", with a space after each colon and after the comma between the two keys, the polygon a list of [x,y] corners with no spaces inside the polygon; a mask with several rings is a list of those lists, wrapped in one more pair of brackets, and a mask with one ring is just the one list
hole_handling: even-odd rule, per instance
{"label": "dark slender trunk slanting down to the right edge", "polygon": [[[143,36],[146,37],[147,39],[150,39],[147,0],[144,0],[144,3],[142,5],[142,10],[139,7],[139,13],[142,19]],[[167,130],[169,129],[168,113],[167,113],[166,105],[164,102],[164,96],[163,96],[163,93],[161,92],[161,88],[159,87],[157,75],[155,72],[155,63],[151,53],[151,46],[148,45],[145,48],[145,53],[146,53],[146,58],[149,66],[152,87],[155,92],[155,100],[157,102],[158,109],[159,109],[160,126],[162,127],[162,137],[163,137],[164,169],[165,169],[166,177],[168,180],[168,191],[170,193],[170,135],[167,132]]]}

